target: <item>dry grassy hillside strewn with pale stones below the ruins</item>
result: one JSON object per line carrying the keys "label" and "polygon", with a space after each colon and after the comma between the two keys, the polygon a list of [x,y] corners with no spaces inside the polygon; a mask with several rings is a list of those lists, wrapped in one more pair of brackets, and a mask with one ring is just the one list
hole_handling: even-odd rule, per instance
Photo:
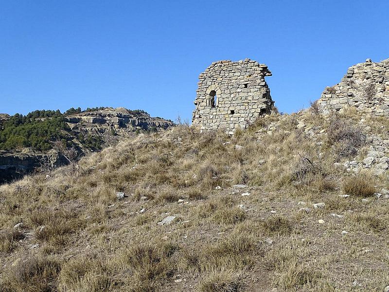
{"label": "dry grassy hillside strewn with pale stones below the ruins", "polygon": [[388,171],[344,165],[388,128],[315,107],[233,136],[182,125],[2,185],[0,291],[381,292]]}

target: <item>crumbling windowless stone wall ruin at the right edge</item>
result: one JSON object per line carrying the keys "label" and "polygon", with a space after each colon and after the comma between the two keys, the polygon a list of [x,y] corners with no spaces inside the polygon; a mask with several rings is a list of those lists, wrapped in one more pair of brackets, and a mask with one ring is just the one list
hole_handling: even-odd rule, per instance
{"label": "crumbling windowless stone wall ruin at the right edge", "polygon": [[325,114],[355,107],[389,117],[389,59],[350,67],[340,83],[323,91],[318,104]]}

